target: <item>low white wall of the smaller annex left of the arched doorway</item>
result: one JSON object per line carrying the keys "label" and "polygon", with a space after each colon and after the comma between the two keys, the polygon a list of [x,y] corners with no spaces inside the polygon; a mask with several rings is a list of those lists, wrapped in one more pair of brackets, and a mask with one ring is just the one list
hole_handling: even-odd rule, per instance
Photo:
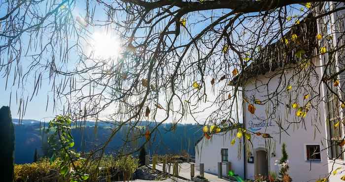
{"label": "low white wall of the smaller annex left of the arched doorway", "polygon": [[[214,134],[211,139],[205,137],[195,146],[196,165],[204,163],[205,172],[218,174],[218,162],[221,162],[221,149],[228,149],[228,159],[235,174],[243,178],[243,151],[238,156],[238,141],[232,146],[231,140],[236,136],[236,130]],[[199,169],[199,168],[198,168]],[[222,167],[223,176],[227,176],[226,165]]]}

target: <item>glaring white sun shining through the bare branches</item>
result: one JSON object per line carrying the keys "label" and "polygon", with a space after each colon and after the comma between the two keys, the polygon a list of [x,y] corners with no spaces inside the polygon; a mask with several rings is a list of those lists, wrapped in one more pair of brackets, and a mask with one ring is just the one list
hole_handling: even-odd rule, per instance
{"label": "glaring white sun shining through the bare branches", "polygon": [[94,32],[89,46],[89,53],[96,59],[114,60],[121,56],[121,40],[109,32]]}

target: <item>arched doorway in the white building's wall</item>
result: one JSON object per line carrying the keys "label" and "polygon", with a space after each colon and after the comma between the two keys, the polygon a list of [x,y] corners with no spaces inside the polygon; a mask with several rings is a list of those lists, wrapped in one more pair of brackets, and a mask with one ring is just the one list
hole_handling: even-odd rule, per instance
{"label": "arched doorway in the white building's wall", "polygon": [[255,152],[255,175],[268,176],[268,156],[264,150],[257,150]]}

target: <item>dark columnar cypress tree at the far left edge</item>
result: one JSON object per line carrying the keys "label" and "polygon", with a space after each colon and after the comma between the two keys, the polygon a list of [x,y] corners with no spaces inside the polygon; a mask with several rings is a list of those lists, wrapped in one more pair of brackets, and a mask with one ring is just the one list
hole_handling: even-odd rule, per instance
{"label": "dark columnar cypress tree at the far left edge", "polygon": [[14,178],[14,127],[9,107],[0,109],[0,176],[2,182],[13,182]]}

